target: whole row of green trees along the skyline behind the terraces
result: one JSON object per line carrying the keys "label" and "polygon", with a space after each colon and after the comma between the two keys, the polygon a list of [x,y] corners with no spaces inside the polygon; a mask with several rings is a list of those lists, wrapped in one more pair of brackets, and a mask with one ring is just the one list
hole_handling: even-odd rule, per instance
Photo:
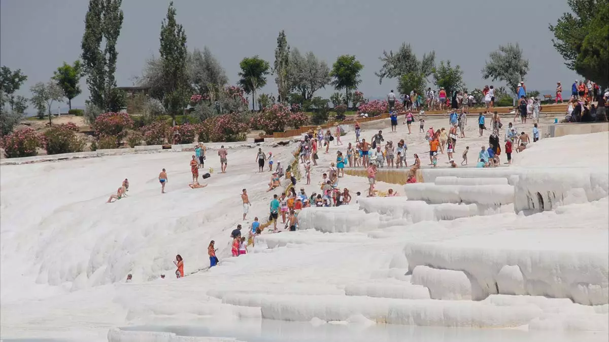
{"label": "whole row of green trees along the skyline behind the terraces", "polygon": [[[609,86],[609,5],[607,0],[567,0],[570,13],[564,13],[556,24],[550,24],[554,33],[555,49],[565,58],[566,66],[586,79],[592,79],[600,86]],[[118,51],[123,12],[122,0],[90,0],[85,15],[85,31],[81,41],[82,54],[71,64],[63,63],[48,82],[39,82],[30,87],[32,97],[26,99],[15,95],[27,80],[20,69],[7,66],[0,69],[0,125],[1,133],[7,134],[21,120],[28,104],[38,116],[49,116],[54,102],[71,100],[79,96],[82,89],[79,82],[86,77],[90,98],[86,101],[86,112],[90,119],[107,111],[119,111],[126,106],[125,93],[116,86],[114,74]],[[166,18],[161,24],[159,57],[152,57],[135,81],[149,88],[147,107],[156,108],[159,113],[175,116],[182,114],[188,106],[192,94],[205,94],[209,98],[209,108],[203,108],[205,115],[211,115],[211,107],[236,108],[225,99],[228,77],[219,60],[208,47],[189,51],[186,32],[177,21],[177,11],[173,2],[167,8]],[[463,71],[450,60],[436,63],[434,51],[418,58],[410,44],[403,43],[394,52],[383,51],[379,57],[381,69],[375,72],[382,83],[385,79],[396,80],[396,89],[402,94],[410,91],[421,93],[428,83],[447,92],[462,89]],[[331,96],[334,105],[354,104],[353,97],[361,85],[361,71],[364,65],[355,55],[337,57],[331,67],[311,51],[301,53],[297,47],[290,47],[286,33],[281,30],[277,37],[275,61],[271,65],[258,55],[246,57],[239,63],[238,85],[252,96],[252,109],[268,106],[272,102],[297,104],[300,106],[327,105],[328,99],[316,97],[315,93],[326,86],[337,91]],[[526,78],[529,61],[524,58],[518,43],[504,44],[489,54],[484,68],[483,79],[505,82],[510,92],[515,92],[518,82]],[[258,94],[266,86],[270,76],[274,76],[277,92]],[[232,92],[234,93],[234,92]],[[238,99],[237,99],[238,100]],[[224,102],[223,102],[224,101]],[[210,109],[211,108],[211,109]],[[215,110],[218,111],[217,108]],[[207,113],[209,112],[209,113]],[[203,115],[203,114],[202,114]],[[52,122],[51,122],[52,123]]]}

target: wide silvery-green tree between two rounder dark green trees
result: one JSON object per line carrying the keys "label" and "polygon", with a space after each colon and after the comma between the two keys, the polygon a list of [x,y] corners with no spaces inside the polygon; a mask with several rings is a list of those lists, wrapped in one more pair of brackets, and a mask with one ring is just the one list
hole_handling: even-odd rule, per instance
{"label": "wide silvery-green tree between two rounder dark green trees", "polygon": [[[405,75],[409,75],[408,79],[410,80],[412,80],[412,77],[420,80],[418,74],[422,74],[423,79],[427,79],[434,69],[435,51],[424,54],[423,58],[418,60],[412,51],[412,46],[402,43],[395,54],[393,51],[383,51],[379,60],[383,62],[381,70],[375,72],[375,75],[379,78],[379,84],[382,84],[382,80],[385,78],[398,78],[398,82],[400,82]],[[425,84],[421,88],[424,88],[424,86]]]}

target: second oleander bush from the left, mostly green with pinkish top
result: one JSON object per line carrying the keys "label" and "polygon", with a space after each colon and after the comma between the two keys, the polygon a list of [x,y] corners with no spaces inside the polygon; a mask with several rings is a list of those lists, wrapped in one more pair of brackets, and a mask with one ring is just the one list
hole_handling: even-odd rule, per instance
{"label": "second oleander bush from the left, mostly green with pinkish top", "polygon": [[78,127],[72,122],[68,124],[53,125],[43,133],[42,145],[48,155],[59,153],[82,152],[85,141],[80,139],[76,132]]}

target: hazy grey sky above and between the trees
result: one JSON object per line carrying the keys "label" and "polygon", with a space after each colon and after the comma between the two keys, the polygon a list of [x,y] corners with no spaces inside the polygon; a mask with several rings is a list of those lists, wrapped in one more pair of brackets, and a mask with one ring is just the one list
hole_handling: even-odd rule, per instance
{"label": "hazy grey sky above and between the trees", "polygon": [[[209,46],[231,83],[238,80],[244,57],[259,55],[272,65],[282,29],[290,46],[313,51],[329,65],[339,55],[356,55],[364,65],[359,89],[365,96],[384,96],[396,88],[396,80],[379,85],[374,72],[381,68],[378,57],[383,49],[395,50],[402,42],[412,44],[418,57],[435,50],[437,62],[460,65],[470,89],[490,84],[481,77],[484,61],[499,44],[510,42],[518,42],[529,58],[527,89],[554,89],[557,81],[568,86],[578,78],[563,64],[547,29],[569,10],[566,0],[175,0],[174,4],[188,48]],[[167,5],[164,0],[123,0],[117,44],[119,86],[131,85],[146,58],[158,56]],[[28,76],[20,94],[29,96],[31,85],[47,81],[63,61],[79,58],[87,8],[86,0],[1,0],[0,64]],[[83,94],[72,105],[88,99],[85,79],[82,88]],[[274,77],[262,91],[276,94]],[[319,95],[333,91],[328,86]]]}

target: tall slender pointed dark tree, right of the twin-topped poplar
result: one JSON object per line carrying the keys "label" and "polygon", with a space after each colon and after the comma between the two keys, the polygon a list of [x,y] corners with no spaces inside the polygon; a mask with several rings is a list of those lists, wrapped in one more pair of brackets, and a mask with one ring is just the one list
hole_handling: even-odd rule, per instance
{"label": "tall slender pointed dark tree, right of the twin-topped poplar", "polygon": [[167,18],[161,24],[161,65],[163,73],[163,104],[167,112],[175,117],[186,106],[190,97],[186,61],[186,33],[175,21],[174,2],[169,2]]}

